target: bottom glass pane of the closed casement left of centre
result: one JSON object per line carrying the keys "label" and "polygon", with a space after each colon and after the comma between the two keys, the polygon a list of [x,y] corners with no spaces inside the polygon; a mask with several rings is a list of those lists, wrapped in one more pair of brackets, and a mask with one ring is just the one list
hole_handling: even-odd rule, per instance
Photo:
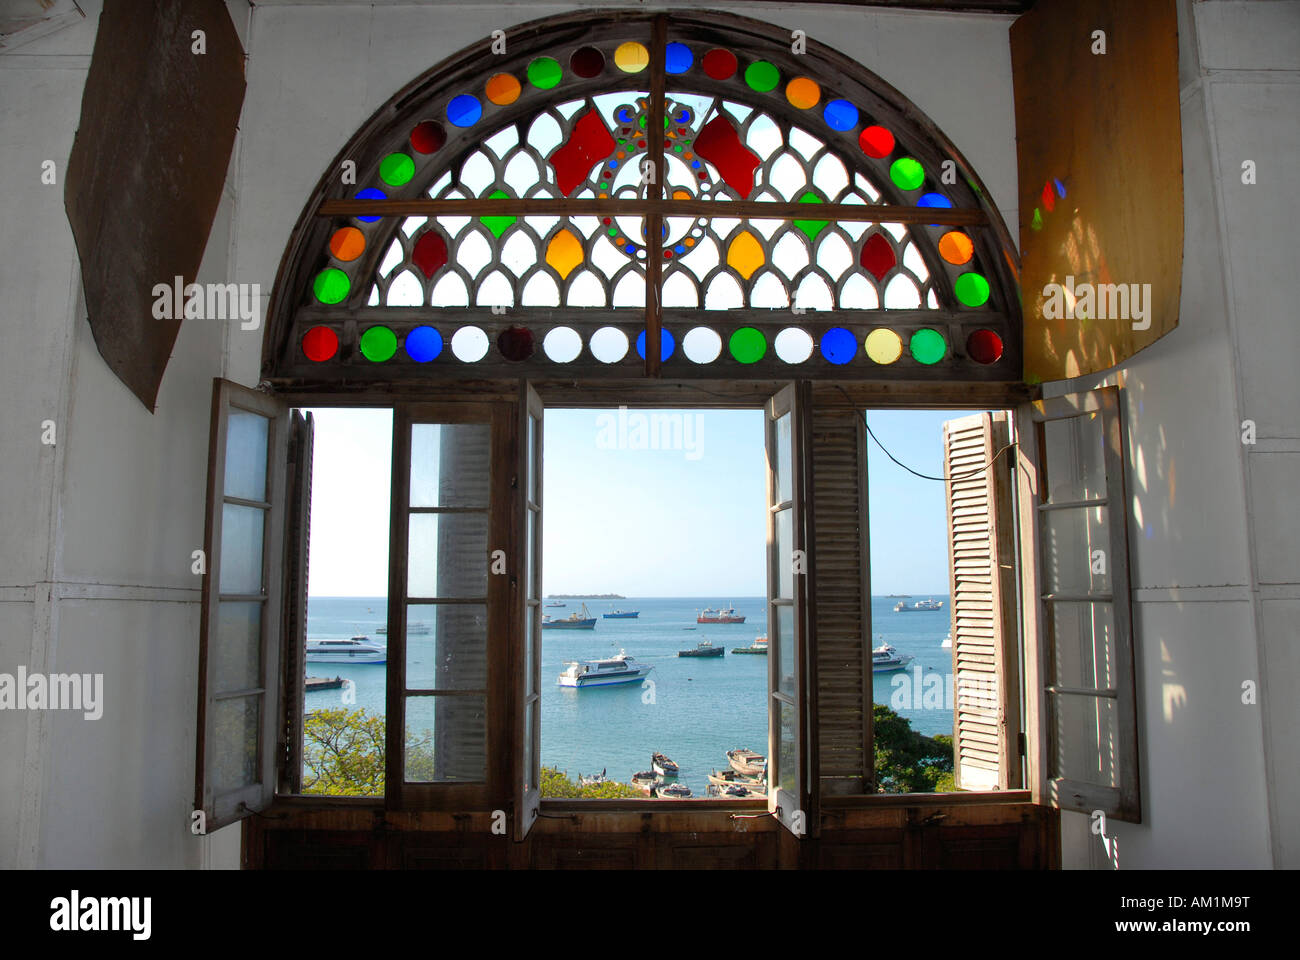
{"label": "bottom glass pane of the closed casement left of centre", "polygon": [[488,774],[488,700],[407,697],[407,783],[481,783]]}

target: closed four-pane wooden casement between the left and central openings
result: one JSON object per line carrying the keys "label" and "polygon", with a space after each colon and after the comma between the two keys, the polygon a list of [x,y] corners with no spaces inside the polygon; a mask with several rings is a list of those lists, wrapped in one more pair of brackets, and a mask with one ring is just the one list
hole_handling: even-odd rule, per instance
{"label": "closed four-pane wooden casement between the left and central openings", "polygon": [[[511,585],[508,403],[399,406],[393,437],[385,803],[504,803]],[[408,645],[407,623],[430,627]]]}

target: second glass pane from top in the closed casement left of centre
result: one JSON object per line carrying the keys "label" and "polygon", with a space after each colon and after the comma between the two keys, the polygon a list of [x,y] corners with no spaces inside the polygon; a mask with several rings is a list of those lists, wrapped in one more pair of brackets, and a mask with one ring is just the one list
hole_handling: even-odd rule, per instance
{"label": "second glass pane from top in the closed casement left of centre", "polygon": [[488,514],[411,514],[407,596],[488,596]]}

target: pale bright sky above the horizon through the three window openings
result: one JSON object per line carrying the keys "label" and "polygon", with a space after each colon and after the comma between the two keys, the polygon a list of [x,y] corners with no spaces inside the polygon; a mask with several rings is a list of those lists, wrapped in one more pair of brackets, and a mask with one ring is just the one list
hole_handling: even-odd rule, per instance
{"label": "pale bright sky above the horizon through the three window openings", "polygon": [[[387,594],[393,415],[312,411],[311,596]],[[875,436],[942,473],[942,424],[972,411],[870,411]],[[766,593],[763,414],[547,410],[543,593]],[[944,484],[867,441],[871,592],[946,594]]]}

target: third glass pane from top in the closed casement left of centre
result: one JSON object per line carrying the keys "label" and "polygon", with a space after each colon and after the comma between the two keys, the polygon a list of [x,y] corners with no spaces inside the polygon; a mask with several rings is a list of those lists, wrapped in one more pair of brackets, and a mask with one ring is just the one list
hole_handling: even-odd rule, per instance
{"label": "third glass pane from top in the closed casement left of centre", "polygon": [[486,686],[488,607],[484,604],[407,606],[407,689]]}

